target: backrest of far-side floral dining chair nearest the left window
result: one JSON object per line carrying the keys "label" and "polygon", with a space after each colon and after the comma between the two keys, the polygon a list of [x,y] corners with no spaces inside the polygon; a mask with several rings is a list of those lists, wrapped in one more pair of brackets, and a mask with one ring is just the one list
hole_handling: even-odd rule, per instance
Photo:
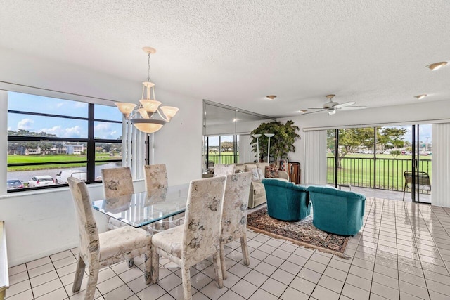
{"label": "backrest of far-side floral dining chair nearest the left window", "polygon": [[134,193],[133,178],[129,167],[101,169],[103,191],[106,198],[115,198]]}

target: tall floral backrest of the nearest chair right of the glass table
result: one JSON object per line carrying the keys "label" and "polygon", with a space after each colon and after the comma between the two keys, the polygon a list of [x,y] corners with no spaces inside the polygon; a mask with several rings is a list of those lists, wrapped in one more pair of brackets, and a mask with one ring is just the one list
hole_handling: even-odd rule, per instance
{"label": "tall floral backrest of the nearest chair right of the glass table", "polygon": [[191,181],[186,203],[181,259],[200,261],[219,250],[225,181],[224,176]]}

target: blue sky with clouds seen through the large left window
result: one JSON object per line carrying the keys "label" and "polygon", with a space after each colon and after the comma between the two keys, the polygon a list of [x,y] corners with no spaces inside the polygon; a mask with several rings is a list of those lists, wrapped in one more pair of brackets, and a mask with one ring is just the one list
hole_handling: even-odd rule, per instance
{"label": "blue sky with clouds seen through the large left window", "polygon": [[[88,104],[8,92],[8,110],[87,117]],[[122,121],[122,114],[116,107],[95,105],[94,115],[98,119]],[[116,139],[122,136],[122,124],[95,122],[94,127],[94,136],[98,138]],[[34,132],[44,131],[56,134],[60,138],[87,138],[87,121],[84,120],[8,113],[8,130],[17,131],[18,129]]]}

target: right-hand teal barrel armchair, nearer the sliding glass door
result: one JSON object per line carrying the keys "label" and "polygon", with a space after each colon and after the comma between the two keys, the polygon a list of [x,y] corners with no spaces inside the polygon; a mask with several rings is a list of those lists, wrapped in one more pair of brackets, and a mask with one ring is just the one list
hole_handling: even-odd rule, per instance
{"label": "right-hand teal barrel armchair, nearer the sliding glass door", "polygon": [[316,228],[336,235],[355,235],[363,226],[364,195],[310,186],[309,199],[312,202],[313,224]]}

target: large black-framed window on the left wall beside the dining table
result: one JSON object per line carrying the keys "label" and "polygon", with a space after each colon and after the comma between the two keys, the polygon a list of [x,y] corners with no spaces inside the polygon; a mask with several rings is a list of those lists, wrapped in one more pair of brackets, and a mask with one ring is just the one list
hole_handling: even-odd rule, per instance
{"label": "large black-framed window on the left wall beside the dining table", "polygon": [[93,183],[101,169],[121,165],[115,107],[8,92],[8,192],[64,185],[75,175]]}

